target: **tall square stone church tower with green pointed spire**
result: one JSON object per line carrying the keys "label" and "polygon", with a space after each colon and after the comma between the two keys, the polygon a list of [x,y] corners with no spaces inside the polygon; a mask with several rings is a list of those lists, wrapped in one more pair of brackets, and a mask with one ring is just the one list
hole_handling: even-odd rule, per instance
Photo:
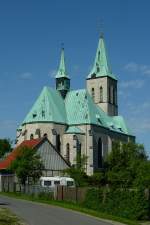
{"label": "tall square stone church tower with green pointed spire", "polygon": [[87,90],[95,104],[109,116],[118,115],[117,79],[111,71],[103,34],[101,34],[94,65],[87,77]]}

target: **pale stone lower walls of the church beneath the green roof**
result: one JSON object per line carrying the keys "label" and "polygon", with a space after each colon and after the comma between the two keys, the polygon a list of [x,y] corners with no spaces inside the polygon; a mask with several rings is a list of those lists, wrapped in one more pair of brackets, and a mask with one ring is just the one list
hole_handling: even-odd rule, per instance
{"label": "pale stone lower walls of the church beneath the green roof", "polygon": [[[129,142],[135,141],[134,136],[128,136],[117,132],[111,132],[105,128],[94,125],[80,125],[84,134],[67,134],[65,133],[67,126],[54,123],[38,123],[27,124],[23,126],[22,134],[26,130],[26,135],[20,134],[20,144],[24,140],[30,140],[33,134],[34,138],[39,138],[36,130],[40,129],[41,137],[47,134],[49,141],[57,148],[56,135],[60,135],[60,154],[67,160],[67,146],[69,144],[69,162],[71,165],[76,165],[78,143],[81,146],[81,155],[87,156],[87,164],[85,165],[85,172],[92,175],[94,171],[99,170],[102,165],[99,165],[99,154],[102,156],[102,161],[106,158],[112,149],[113,141]],[[55,133],[56,132],[56,133]],[[101,146],[99,145],[101,140]],[[101,153],[98,151],[101,148]],[[49,174],[49,172],[48,172]],[[57,174],[57,172],[56,172]],[[58,174],[57,174],[58,175]]]}

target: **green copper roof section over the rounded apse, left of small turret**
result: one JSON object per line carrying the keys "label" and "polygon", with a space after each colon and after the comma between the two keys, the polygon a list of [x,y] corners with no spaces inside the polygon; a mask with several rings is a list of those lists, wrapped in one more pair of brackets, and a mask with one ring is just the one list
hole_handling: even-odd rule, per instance
{"label": "green copper roof section over the rounded apse, left of small turret", "polygon": [[58,91],[43,88],[23,124],[35,122],[66,123],[65,104]]}

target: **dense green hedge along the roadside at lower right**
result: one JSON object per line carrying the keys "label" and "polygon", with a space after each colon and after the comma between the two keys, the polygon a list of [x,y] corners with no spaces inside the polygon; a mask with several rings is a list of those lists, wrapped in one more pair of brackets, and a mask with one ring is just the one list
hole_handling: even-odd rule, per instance
{"label": "dense green hedge along the roadside at lower right", "polygon": [[133,220],[149,219],[150,203],[143,190],[89,189],[84,206]]}

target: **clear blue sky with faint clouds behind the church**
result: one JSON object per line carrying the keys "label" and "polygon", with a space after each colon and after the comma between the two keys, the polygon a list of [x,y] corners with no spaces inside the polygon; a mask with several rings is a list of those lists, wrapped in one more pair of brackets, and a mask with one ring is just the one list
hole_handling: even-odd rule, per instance
{"label": "clear blue sky with faint clouds behind the church", "polygon": [[72,89],[83,88],[93,63],[101,21],[119,112],[150,153],[150,1],[0,0],[0,138],[15,139],[65,43]]}

